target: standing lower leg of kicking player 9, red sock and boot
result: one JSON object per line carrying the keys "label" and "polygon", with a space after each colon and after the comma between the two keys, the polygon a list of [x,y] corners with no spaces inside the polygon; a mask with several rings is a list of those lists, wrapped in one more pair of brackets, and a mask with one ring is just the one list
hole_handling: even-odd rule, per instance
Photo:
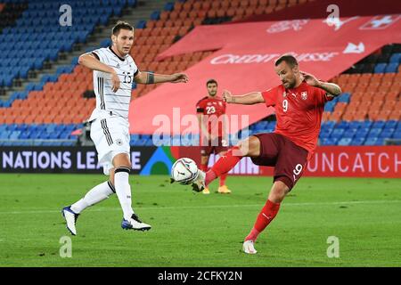
{"label": "standing lower leg of kicking player 9, red sock and boot", "polygon": [[269,197],[266,201],[265,207],[262,208],[258,214],[257,220],[250,231],[250,234],[245,238],[242,250],[248,254],[256,254],[258,251],[255,249],[254,244],[258,239],[260,232],[266,229],[266,226],[270,224],[274,217],[277,215],[282,199],[290,191],[290,188],[282,181],[275,181],[272,190],[269,193]]}

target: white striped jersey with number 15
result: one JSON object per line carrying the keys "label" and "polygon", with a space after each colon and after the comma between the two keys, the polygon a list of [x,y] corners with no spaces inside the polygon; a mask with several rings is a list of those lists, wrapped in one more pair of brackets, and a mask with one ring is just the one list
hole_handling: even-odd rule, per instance
{"label": "white striped jersey with number 15", "polygon": [[134,77],[138,73],[138,67],[133,58],[127,54],[125,58],[119,57],[111,50],[104,47],[92,52],[99,61],[115,69],[119,75],[119,90],[112,91],[111,76],[109,73],[94,70],[94,94],[96,94],[96,108],[89,120],[99,118],[107,112],[122,118],[128,118],[129,103],[131,102],[131,90]]}

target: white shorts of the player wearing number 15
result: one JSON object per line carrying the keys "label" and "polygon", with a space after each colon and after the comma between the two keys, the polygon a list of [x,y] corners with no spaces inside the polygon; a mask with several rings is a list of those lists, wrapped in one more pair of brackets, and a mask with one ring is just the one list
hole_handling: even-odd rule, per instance
{"label": "white shorts of the player wearing number 15", "polygon": [[119,153],[130,154],[129,123],[118,116],[96,118],[91,124],[91,139],[97,151],[104,175],[110,174],[113,159]]}

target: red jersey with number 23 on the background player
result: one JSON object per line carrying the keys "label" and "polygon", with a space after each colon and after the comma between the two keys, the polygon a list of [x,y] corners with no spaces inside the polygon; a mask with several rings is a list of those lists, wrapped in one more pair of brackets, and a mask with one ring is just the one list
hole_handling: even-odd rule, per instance
{"label": "red jersey with number 23 on the background player", "polygon": [[[223,135],[222,119],[219,117],[225,115],[226,103],[221,98],[203,97],[196,103],[196,112],[203,114],[205,120],[209,120],[208,131],[209,134]],[[218,129],[217,129],[218,128]]]}

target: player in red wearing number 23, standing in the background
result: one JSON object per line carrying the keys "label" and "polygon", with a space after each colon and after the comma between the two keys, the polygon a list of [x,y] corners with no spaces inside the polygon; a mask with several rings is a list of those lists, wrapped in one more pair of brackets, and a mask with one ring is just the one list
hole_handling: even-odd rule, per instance
{"label": "player in red wearing number 23, standing in the background", "polygon": [[[196,103],[196,113],[199,120],[201,137],[201,170],[208,170],[209,156],[211,153],[217,153],[219,156],[225,155],[228,146],[225,126],[225,107],[226,103],[217,95],[217,81],[209,79],[206,83],[208,96],[203,97]],[[225,185],[227,174],[220,175],[220,184],[218,192],[229,194],[231,191]],[[209,194],[209,188],[203,189],[203,194]]]}

